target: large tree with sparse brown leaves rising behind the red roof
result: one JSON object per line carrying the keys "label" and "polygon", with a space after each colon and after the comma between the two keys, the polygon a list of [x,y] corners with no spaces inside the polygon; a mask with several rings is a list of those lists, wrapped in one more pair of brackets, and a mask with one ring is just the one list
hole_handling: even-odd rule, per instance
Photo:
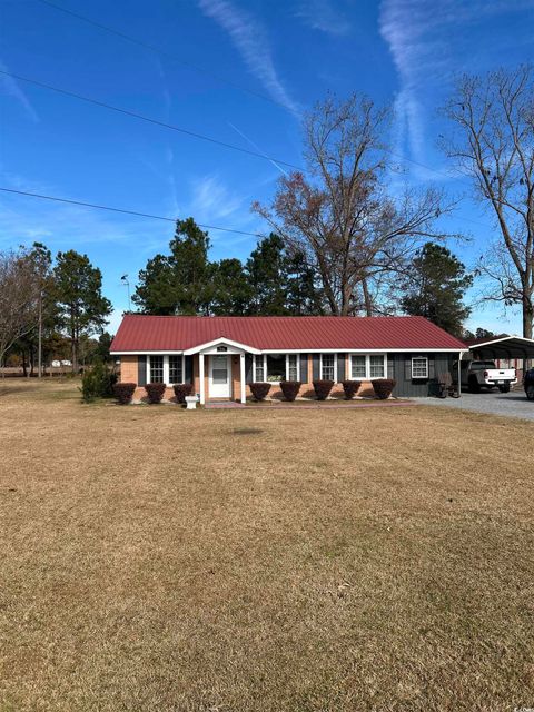
{"label": "large tree with sparse brown leaves rising behind the red roof", "polygon": [[442,237],[433,229],[444,211],[439,191],[388,195],[388,119],[387,109],[356,95],[318,103],[304,127],[307,176],[281,177],[271,206],[253,206],[289,249],[306,256],[334,315],[370,316],[383,276],[422,239]]}

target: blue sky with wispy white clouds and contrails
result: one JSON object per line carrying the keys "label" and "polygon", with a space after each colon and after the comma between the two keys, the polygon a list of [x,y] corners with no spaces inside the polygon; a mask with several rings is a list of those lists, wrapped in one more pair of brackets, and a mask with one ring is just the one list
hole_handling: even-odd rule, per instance
{"label": "blue sky with wispy white clouds and contrails", "polygon": [[[306,109],[328,90],[368,93],[395,107],[389,141],[402,179],[462,197],[443,227],[471,241],[451,248],[472,266],[492,238],[493,217],[472,200],[468,182],[449,177],[436,148],[444,129],[436,109],[457,72],[533,60],[534,0],[58,4],[164,53],[38,0],[1,0],[0,69],[297,165]],[[280,172],[267,160],[1,76],[0,111],[3,187],[266,230],[250,204],[274,192]],[[172,233],[168,222],[0,195],[0,249],[41,240],[53,251],[87,253],[116,309],[111,329],[127,308],[120,276],[135,283]],[[245,258],[255,244],[243,235],[210,236],[214,259]],[[517,314],[504,317],[488,305],[476,307],[469,326],[521,332]]]}

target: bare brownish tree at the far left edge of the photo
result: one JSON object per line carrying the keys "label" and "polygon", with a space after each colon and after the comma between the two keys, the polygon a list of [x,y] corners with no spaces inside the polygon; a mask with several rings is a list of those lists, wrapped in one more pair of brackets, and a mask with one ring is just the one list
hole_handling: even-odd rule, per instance
{"label": "bare brownish tree at the far left edge of the photo", "polygon": [[39,291],[31,254],[0,253],[0,364],[14,342],[36,328]]}

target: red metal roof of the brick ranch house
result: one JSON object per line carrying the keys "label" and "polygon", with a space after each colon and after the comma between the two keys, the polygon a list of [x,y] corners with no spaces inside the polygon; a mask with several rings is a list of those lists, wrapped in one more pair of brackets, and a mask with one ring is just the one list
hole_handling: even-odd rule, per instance
{"label": "red metal roof of the brick ranch house", "polygon": [[461,340],[418,316],[145,316],[122,319],[112,353],[181,352],[227,338],[270,349],[465,349]]}

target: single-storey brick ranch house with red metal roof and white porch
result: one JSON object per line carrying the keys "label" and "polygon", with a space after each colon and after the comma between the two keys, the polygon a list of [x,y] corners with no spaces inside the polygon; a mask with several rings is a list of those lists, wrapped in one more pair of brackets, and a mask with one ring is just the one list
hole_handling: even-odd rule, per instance
{"label": "single-storey brick ranch house with red metal roof and white porch", "polygon": [[426,396],[429,384],[451,370],[465,344],[423,317],[198,317],[126,315],[110,352],[120,358],[120,379],[137,383],[192,383],[200,403],[240,400],[249,384],[300,380],[300,396],[313,382],[362,380],[372,393],[375,378],[395,378],[397,396]]}

